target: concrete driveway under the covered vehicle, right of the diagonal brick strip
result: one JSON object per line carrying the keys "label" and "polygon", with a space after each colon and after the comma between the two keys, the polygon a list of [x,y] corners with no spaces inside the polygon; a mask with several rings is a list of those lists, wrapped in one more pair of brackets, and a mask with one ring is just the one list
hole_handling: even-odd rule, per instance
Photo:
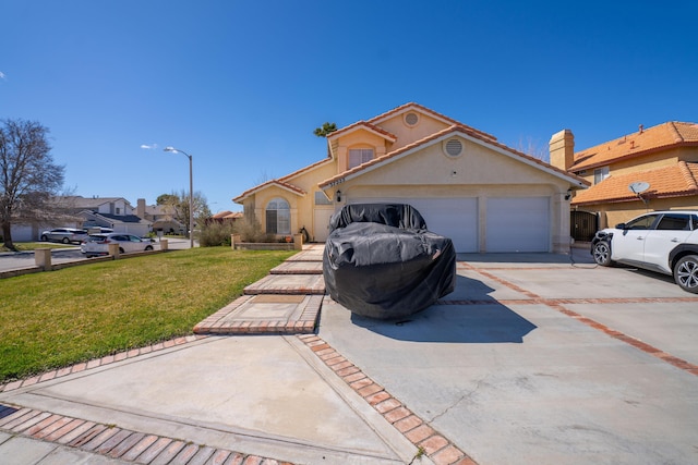
{"label": "concrete driveway under the covered vehicle, right of the diagonal brick strip", "polygon": [[318,335],[479,464],[698,463],[698,296],[575,257],[461,255],[441,305]]}

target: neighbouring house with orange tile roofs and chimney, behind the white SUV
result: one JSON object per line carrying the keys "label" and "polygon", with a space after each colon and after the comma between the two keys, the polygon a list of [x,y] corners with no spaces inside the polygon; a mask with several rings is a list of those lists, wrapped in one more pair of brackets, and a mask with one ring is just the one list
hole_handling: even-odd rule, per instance
{"label": "neighbouring house with orange tile roofs and chimney, behind the white SUV", "polygon": [[[576,193],[573,216],[598,217],[598,229],[649,210],[698,209],[698,124],[667,122],[574,152],[574,136],[551,139],[551,163],[592,186]],[[630,185],[649,187],[640,193]]]}

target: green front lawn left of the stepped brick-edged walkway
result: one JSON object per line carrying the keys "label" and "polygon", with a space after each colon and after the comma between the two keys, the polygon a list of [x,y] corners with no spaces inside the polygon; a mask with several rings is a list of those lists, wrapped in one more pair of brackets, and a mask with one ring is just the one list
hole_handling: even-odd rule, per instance
{"label": "green front lawn left of the stepped brick-edged walkway", "polygon": [[0,280],[0,382],[191,334],[293,254],[203,247]]}

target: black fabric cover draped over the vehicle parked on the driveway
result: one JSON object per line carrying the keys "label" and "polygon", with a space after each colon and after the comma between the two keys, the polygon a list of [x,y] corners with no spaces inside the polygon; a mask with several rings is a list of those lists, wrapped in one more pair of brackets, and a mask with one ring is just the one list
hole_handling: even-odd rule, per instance
{"label": "black fabric cover draped over the vehicle parked on the driveway", "polygon": [[428,231],[410,205],[347,205],[332,217],[329,230],[325,287],[357,315],[401,318],[455,289],[453,242]]}

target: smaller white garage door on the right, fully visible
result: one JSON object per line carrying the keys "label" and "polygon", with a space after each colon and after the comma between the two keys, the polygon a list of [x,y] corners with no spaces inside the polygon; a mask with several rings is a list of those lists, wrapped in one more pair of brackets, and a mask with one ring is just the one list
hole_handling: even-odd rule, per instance
{"label": "smaller white garage door on the right, fully visible", "polygon": [[488,198],[488,252],[550,252],[547,197]]}

